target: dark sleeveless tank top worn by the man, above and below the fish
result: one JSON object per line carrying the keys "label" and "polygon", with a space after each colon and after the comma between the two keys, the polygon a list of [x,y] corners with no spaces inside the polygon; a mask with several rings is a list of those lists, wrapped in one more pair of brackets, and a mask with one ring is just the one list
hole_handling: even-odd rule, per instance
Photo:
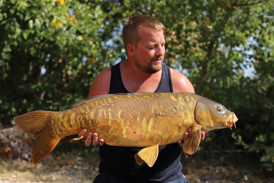
{"label": "dark sleeveless tank top worn by the man, above and below the fish", "polygon": [[[162,65],[162,77],[155,92],[173,92],[170,69]],[[130,93],[123,85],[120,63],[111,67],[109,94]],[[128,179],[128,182],[163,182],[180,177],[181,147],[177,143],[159,146],[159,154],[155,164],[148,167],[146,163],[138,165],[135,154],[140,147],[120,147],[103,145],[99,147],[101,162],[99,172],[108,172]]]}

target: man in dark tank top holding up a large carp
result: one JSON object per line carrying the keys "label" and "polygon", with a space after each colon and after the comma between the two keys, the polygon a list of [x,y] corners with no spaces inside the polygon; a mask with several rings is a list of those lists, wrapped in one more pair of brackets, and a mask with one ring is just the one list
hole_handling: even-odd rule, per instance
{"label": "man in dark tank top holding up a large carp", "polygon": [[[123,27],[123,41],[127,59],[103,70],[94,79],[89,97],[113,93],[133,92],[192,92],[193,85],[183,74],[165,66],[164,25],[151,16],[135,16]],[[184,134],[185,141],[191,129]],[[84,135],[87,130],[79,132]],[[205,132],[202,132],[203,140]],[[85,140],[87,146],[100,142],[99,174],[94,183],[104,182],[188,182],[181,173],[180,152],[182,141],[159,146],[158,158],[153,167],[140,166],[134,155],[141,148],[119,147],[105,144],[98,134],[91,132]]]}

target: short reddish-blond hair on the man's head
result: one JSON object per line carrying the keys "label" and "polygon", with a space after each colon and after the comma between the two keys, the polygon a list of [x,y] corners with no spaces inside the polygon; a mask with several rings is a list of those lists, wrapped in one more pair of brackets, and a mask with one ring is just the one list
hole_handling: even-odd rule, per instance
{"label": "short reddish-blond hair on the man's head", "polygon": [[154,30],[165,30],[165,26],[156,18],[148,15],[133,16],[124,23],[122,36],[126,48],[128,43],[137,47],[141,37],[138,33],[140,27],[149,27]]}

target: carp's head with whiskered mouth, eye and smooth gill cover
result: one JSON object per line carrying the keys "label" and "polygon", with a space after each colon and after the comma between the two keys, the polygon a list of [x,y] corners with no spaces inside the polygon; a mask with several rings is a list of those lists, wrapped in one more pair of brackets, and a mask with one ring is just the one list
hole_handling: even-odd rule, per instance
{"label": "carp's head with whiskered mouth, eye and smooth gill cover", "polygon": [[214,129],[231,128],[233,125],[236,128],[235,123],[238,118],[235,113],[226,109],[222,104],[201,98],[196,102],[195,120],[205,131],[212,131]]}

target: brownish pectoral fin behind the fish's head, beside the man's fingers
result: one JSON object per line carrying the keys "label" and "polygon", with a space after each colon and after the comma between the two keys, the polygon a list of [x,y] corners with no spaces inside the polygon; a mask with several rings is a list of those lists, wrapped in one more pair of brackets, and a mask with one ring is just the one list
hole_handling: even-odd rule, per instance
{"label": "brownish pectoral fin behind the fish's head, beside the man's fingers", "polygon": [[187,152],[187,154],[194,154],[199,147],[201,137],[201,128],[192,127],[191,137],[183,143],[183,151]]}

